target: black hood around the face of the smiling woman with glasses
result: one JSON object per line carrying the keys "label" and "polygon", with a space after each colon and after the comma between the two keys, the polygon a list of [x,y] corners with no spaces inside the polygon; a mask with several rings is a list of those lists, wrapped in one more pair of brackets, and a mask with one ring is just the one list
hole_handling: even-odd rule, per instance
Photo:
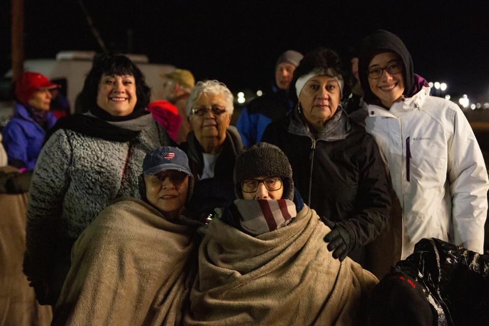
{"label": "black hood around the face of the smiling woman with glasses", "polygon": [[368,85],[367,69],[373,57],[382,52],[395,52],[404,64],[404,95],[411,97],[415,88],[415,77],[413,71],[413,59],[399,37],[384,31],[377,30],[373,34],[365,37],[361,42],[360,58],[358,62],[358,72],[360,83],[365,92],[364,101],[369,104],[377,104],[378,98],[370,90]]}

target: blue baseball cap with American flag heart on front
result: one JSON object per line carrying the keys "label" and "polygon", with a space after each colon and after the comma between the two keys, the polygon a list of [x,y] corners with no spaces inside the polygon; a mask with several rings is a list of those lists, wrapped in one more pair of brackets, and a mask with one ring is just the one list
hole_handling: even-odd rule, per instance
{"label": "blue baseball cap with American flag heart on front", "polygon": [[146,154],[143,160],[144,175],[153,175],[167,170],[177,170],[192,176],[187,154],[177,147],[160,147]]}

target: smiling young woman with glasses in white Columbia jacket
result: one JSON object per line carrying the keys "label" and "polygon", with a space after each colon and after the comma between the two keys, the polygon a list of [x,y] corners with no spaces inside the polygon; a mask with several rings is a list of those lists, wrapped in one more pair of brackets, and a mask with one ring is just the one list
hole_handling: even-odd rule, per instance
{"label": "smiling young woman with glasses in white Columbia jacket", "polygon": [[359,72],[366,130],[383,155],[402,206],[402,256],[422,238],[482,253],[489,181],[474,133],[458,105],[429,96],[394,34],[362,41]]}

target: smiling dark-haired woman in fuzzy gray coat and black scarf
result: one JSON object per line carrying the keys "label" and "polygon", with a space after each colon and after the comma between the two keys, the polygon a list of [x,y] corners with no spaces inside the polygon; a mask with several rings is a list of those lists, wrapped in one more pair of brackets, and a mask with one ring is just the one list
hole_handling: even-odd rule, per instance
{"label": "smiling dark-haired woman in fuzzy gray coat and black scarf", "polygon": [[171,142],[146,106],[150,90],[127,57],[94,58],[80,95],[88,112],[46,135],[31,185],[24,273],[41,304],[55,304],[73,242],[116,198],[139,197],[146,152]]}

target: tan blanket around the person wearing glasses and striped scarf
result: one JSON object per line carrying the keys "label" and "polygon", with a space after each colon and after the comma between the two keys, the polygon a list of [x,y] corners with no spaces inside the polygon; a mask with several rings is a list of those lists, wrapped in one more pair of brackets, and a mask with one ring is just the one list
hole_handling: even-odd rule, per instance
{"label": "tan blanket around the person wearing glasses and striped scarf", "polygon": [[186,325],[351,325],[378,280],[334,259],[330,229],[304,206],[292,222],[257,237],[220,219],[201,228],[199,273]]}

